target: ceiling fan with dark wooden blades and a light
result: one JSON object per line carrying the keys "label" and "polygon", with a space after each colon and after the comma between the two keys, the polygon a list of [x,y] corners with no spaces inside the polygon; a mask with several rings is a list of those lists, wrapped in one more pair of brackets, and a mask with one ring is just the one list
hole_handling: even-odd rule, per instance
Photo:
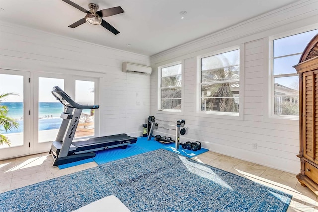
{"label": "ceiling fan with dark wooden blades and a light", "polygon": [[115,35],[117,35],[119,33],[119,31],[117,29],[115,29],[112,25],[110,25],[108,22],[104,21],[101,18],[123,13],[124,10],[120,6],[109,8],[109,9],[102,9],[102,10],[97,11],[99,8],[98,5],[94,4],[94,3],[90,3],[90,4],[88,4],[90,11],[87,11],[83,7],[73,3],[70,0],[62,0],[62,1],[64,1],[67,4],[70,4],[71,6],[79,9],[82,12],[86,13],[86,16],[84,18],[71,24],[69,27],[75,28],[75,27],[87,22],[87,23],[90,23],[93,25],[102,25],[104,28],[108,29],[109,31],[111,31]]}

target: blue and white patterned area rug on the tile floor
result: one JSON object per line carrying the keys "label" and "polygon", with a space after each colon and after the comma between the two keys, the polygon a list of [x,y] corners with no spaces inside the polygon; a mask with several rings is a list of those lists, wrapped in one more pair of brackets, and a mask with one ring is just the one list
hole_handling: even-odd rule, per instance
{"label": "blue and white patterned area rug on the tile floor", "polygon": [[0,211],[69,212],[109,195],[132,212],[286,212],[291,201],[281,191],[159,149],[2,193]]}

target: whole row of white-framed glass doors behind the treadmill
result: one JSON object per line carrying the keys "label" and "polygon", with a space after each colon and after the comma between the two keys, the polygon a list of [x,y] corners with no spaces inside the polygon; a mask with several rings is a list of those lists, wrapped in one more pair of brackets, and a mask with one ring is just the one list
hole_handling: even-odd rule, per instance
{"label": "whole row of white-framed glass doors behind the treadmill", "polygon": [[[14,93],[0,104],[7,105],[8,116],[19,127],[1,134],[9,138],[10,146],[0,145],[0,159],[48,152],[55,140],[65,108],[51,94],[59,86],[79,104],[98,103],[98,79],[0,69],[0,95]],[[15,95],[16,94],[16,95]],[[84,110],[79,120],[75,138],[98,135],[98,111]]]}

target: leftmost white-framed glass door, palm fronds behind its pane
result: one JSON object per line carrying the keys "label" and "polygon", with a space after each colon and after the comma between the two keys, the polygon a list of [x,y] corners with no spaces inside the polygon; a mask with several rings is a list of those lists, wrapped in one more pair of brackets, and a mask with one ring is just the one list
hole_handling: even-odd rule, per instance
{"label": "leftmost white-framed glass door, palm fronds behind its pane", "polygon": [[0,159],[30,153],[29,76],[26,71],[0,69],[0,121],[5,123],[0,124]]}

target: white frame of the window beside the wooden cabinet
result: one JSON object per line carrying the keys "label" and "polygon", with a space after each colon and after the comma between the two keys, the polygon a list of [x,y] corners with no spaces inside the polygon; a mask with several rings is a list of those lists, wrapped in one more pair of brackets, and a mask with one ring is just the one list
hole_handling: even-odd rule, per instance
{"label": "white frame of the window beside the wooden cabinet", "polygon": [[[264,46],[265,47],[268,46],[268,51],[264,50],[264,53],[268,52],[268,56],[269,56],[268,63],[265,63],[265,65],[268,65],[268,68],[267,68],[268,77],[266,77],[268,81],[266,83],[269,86],[269,88],[268,88],[269,94],[267,95],[268,96],[268,118],[269,118],[269,120],[267,120],[267,121],[270,121],[270,119],[271,119],[271,120],[280,120],[280,123],[285,123],[285,121],[288,121],[288,120],[296,120],[296,121],[299,120],[299,115],[294,116],[294,115],[274,114],[274,79],[280,78],[280,77],[289,77],[289,76],[298,76],[299,75],[296,73],[296,70],[295,70],[295,73],[290,73],[290,74],[280,74],[280,75],[273,74],[274,40],[297,35],[297,34],[308,32],[308,31],[315,30],[315,29],[317,29],[317,28],[305,28],[305,29],[302,28],[302,29],[293,30],[293,31],[290,31],[287,33],[281,33],[278,35],[270,36],[270,37],[264,39],[264,44],[266,44]],[[284,56],[275,57],[275,58],[287,57],[287,56],[298,55],[298,54],[301,55],[302,52],[291,54],[291,55],[284,55]],[[264,66],[264,68],[266,70],[266,66]]]}

